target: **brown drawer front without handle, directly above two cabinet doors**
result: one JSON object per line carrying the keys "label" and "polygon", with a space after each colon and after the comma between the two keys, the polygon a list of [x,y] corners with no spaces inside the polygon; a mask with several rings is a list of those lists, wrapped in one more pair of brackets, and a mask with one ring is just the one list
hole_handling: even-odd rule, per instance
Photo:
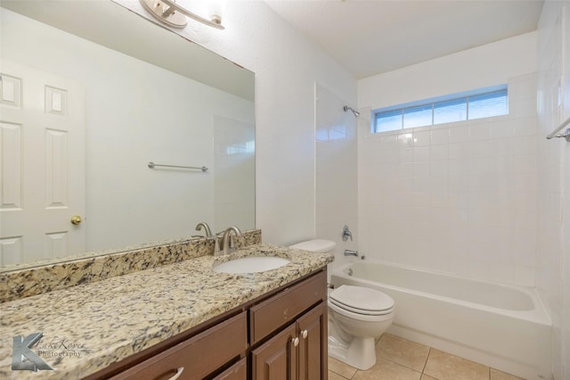
{"label": "brown drawer front without handle, directly above two cabinet doors", "polygon": [[326,292],[327,277],[321,272],[252,307],[249,310],[249,342],[261,341],[315,303],[325,300]]}

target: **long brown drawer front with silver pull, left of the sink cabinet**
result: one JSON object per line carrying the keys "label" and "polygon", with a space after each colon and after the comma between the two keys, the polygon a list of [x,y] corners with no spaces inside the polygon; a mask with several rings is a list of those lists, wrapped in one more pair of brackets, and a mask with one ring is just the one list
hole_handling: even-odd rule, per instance
{"label": "long brown drawer front with silver pull, left of the sink cabinet", "polygon": [[244,311],[112,378],[162,380],[175,376],[177,372],[181,372],[176,377],[179,380],[208,376],[247,350],[246,317]]}

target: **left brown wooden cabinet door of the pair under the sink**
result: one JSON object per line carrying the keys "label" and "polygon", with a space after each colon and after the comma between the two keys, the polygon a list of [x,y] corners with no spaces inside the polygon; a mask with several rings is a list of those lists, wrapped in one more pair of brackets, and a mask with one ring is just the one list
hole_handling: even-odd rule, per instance
{"label": "left brown wooden cabinet door of the pair under the sink", "polygon": [[296,327],[295,324],[287,327],[251,352],[255,380],[297,380]]}

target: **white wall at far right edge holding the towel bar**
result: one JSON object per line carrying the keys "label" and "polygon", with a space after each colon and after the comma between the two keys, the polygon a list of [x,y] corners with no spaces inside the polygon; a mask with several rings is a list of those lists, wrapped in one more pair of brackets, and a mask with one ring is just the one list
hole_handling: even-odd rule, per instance
{"label": "white wall at far right edge holding the towel bar", "polygon": [[546,140],[570,117],[570,1],[547,1],[538,33],[538,268],[553,323],[552,370],[570,379],[570,144]]}

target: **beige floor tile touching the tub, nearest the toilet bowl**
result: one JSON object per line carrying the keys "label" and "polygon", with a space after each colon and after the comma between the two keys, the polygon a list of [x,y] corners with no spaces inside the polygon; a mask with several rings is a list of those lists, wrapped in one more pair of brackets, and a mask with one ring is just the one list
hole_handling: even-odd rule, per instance
{"label": "beige floor tile touching the tub, nearest the toilet bowl", "polygon": [[398,364],[416,371],[423,371],[428,360],[429,347],[403,339],[399,336],[382,335],[376,344],[376,355],[395,361]]}

